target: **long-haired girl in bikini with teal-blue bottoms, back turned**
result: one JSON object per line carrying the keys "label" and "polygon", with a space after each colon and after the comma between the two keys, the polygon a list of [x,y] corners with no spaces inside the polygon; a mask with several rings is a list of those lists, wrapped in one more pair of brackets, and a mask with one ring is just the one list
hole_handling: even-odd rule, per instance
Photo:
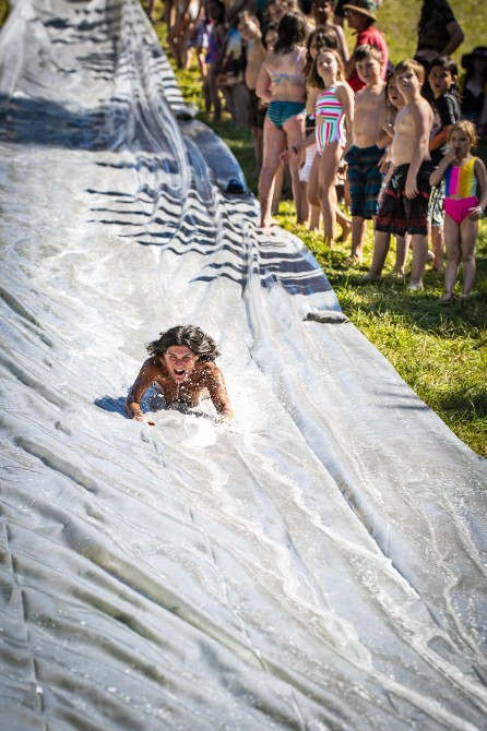
{"label": "long-haired girl in bikini with teal-blue bottoms, back turned", "polygon": [[[280,155],[287,145],[297,145],[305,139],[305,64],[307,36],[306,21],[301,13],[289,12],[281,20],[278,40],[261,67],[256,93],[269,104],[263,132],[263,163],[259,176],[261,225],[275,226],[271,215],[272,193]],[[299,187],[299,160],[289,165],[293,195],[298,223],[304,220]]]}

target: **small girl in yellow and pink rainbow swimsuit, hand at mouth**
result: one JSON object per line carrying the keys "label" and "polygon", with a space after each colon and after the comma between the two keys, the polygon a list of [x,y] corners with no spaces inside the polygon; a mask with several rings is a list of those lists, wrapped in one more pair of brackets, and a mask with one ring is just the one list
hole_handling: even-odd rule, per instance
{"label": "small girl in yellow and pink rainbow swimsuit, hand at mouth", "polygon": [[[470,296],[475,279],[475,243],[478,219],[487,206],[487,171],[479,157],[472,155],[477,144],[475,125],[467,120],[455,122],[448,134],[449,151],[431,173],[431,185],[444,178],[444,243],[447,271],[442,302],[453,297],[453,287],[463,264],[463,290],[460,297]],[[477,195],[480,189],[480,196]]]}

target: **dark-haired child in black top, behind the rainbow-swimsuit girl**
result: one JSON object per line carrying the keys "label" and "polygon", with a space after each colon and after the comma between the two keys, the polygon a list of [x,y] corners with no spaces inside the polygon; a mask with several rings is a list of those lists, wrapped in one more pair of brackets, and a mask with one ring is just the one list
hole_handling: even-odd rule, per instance
{"label": "dark-haired child in black top, behind the rainbow-swimsuit girl", "polygon": [[[459,70],[456,63],[441,56],[429,67],[428,82],[433,98],[431,107],[433,122],[429,140],[429,152],[433,165],[438,165],[447,152],[448,132],[454,122],[462,117],[460,101],[455,95]],[[433,253],[432,268],[441,272],[443,268],[443,189],[442,185],[431,190],[428,208],[428,221],[431,229],[431,244]]]}

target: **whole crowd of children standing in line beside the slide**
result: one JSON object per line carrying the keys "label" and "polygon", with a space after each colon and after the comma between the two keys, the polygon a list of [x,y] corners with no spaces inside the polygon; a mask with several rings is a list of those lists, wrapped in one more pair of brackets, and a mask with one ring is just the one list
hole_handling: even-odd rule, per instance
{"label": "whole crowd of children standing in line beside the slide", "polygon": [[[441,272],[446,253],[442,301],[453,296],[460,263],[467,297],[487,205],[486,167],[472,155],[477,134],[487,136],[487,48],[462,57],[462,75],[432,51],[394,69],[377,5],[181,0],[173,8],[166,0],[165,19],[176,62],[183,67],[197,53],[206,113],[218,119],[223,97],[234,123],[252,131],[262,227],[275,226],[287,167],[298,223],[322,227],[330,247],[336,225],[341,240],[352,235],[352,263],[363,262],[371,221],[365,283],[381,275],[394,236],[394,275],[404,276],[413,251],[409,288],[423,289],[428,261]],[[356,33],[352,56],[344,21]]]}

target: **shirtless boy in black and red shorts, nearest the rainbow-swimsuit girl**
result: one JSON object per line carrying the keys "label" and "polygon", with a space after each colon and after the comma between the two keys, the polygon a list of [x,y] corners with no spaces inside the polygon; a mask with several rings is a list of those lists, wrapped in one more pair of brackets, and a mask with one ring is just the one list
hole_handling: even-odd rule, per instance
{"label": "shirtless boy in black and red shorts, nearest the rainbow-swimsuit girl", "polygon": [[429,176],[432,163],[429,155],[429,133],[432,109],[421,96],[425,70],[420,63],[406,59],[394,71],[395,81],[405,105],[395,118],[391,143],[391,167],[382,183],[372,264],[363,281],[380,276],[389,250],[390,235],[412,235],[413,268],[409,289],[423,289],[428,255]]}

